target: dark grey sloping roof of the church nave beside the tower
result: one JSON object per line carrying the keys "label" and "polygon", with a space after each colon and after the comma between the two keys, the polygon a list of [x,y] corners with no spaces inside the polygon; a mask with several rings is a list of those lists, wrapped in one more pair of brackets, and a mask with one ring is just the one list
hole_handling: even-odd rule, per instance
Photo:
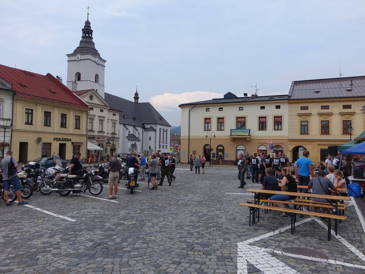
{"label": "dark grey sloping roof of the church nave beside the tower", "polygon": [[106,92],[104,98],[112,107],[123,111],[119,114],[119,123],[141,127],[144,127],[143,124],[170,126],[165,118],[148,102],[134,103]]}

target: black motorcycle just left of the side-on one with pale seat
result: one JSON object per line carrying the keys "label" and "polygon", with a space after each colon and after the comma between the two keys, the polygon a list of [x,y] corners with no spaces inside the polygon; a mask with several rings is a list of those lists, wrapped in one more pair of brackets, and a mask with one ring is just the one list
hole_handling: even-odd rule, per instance
{"label": "black motorcycle just left of the side-on one with pale seat", "polygon": [[29,162],[28,167],[24,168],[24,171],[27,172],[27,177],[32,181],[33,191],[39,191],[43,195],[49,195],[53,192],[53,180],[44,178],[46,168],[40,168],[40,166],[38,163]]}

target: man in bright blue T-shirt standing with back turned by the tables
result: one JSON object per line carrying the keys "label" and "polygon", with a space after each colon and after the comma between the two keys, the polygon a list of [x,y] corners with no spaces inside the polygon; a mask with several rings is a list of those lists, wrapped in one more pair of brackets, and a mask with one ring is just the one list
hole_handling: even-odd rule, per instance
{"label": "man in bright blue T-shirt standing with back turned by the tables", "polygon": [[[309,157],[309,151],[303,151],[303,157],[298,159],[295,164],[295,177],[300,186],[308,186],[310,177],[313,175],[312,161]],[[298,193],[308,193],[308,189],[297,188]],[[300,196],[297,197],[300,199]]]}

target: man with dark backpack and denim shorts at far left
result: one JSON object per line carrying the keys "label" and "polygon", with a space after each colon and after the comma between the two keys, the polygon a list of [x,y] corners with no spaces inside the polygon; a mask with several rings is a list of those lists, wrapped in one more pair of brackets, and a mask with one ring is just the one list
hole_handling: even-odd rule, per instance
{"label": "man with dark backpack and denim shorts at far left", "polygon": [[18,163],[13,157],[12,151],[7,151],[6,156],[3,160],[1,160],[0,168],[4,174],[4,198],[6,205],[11,206],[12,203],[9,203],[9,189],[10,186],[14,187],[16,197],[18,197],[18,205],[26,205],[28,202],[22,201],[22,195],[20,195],[20,190],[22,189],[22,185],[20,184],[20,180],[18,175],[16,174],[16,169],[18,168]]}

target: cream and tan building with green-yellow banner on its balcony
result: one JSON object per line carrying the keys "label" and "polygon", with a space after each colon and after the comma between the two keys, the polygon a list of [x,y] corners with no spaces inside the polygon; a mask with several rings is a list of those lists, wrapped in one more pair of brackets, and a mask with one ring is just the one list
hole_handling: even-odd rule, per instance
{"label": "cream and tan building with green-yellow banner on its balcony", "polygon": [[239,152],[288,150],[287,95],[237,97],[228,92],[179,107],[182,163],[196,154],[233,164]]}

